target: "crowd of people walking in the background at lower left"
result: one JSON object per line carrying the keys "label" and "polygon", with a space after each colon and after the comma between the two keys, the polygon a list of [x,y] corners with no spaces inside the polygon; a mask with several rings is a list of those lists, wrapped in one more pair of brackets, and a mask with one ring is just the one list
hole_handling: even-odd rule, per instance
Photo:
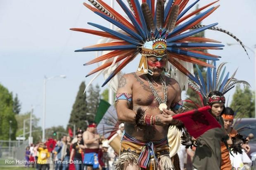
{"label": "crowd of people walking in the background at lower left", "polygon": [[[122,135],[123,123],[119,125],[118,133]],[[59,141],[50,141],[26,147],[26,167],[49,170],[52,164],[55,170],[111,170],[118,156],[109,141],[97,134],[95,123],[84,132],[78,131],[73,139],[64,135]]]}

